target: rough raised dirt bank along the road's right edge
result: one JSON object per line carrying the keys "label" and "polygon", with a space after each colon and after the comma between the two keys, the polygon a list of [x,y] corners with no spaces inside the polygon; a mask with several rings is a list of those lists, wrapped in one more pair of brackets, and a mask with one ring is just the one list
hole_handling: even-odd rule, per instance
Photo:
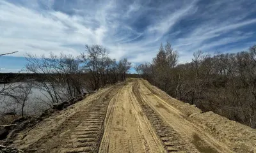
{"label": "rough raised dirt bank along the road's right edge", "polygon": [[221,143],[225,143],[234,152],[256,152],[256,130],[213,112],[202,112],[188,103],[170,97],[166,92],[140,80],[152,93],[164,99],[166,103],[179,110],[186,120],[193,122]]}

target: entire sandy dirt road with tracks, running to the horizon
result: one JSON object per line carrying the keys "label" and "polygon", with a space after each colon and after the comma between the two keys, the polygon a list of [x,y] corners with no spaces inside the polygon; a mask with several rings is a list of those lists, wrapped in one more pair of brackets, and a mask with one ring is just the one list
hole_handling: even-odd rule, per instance
{"label": "entire sandy dirt road with tracks, running to the horizon", "polygon": [[13,141],[26,152],[256,152],[255,144],[255,129],[135,78],[54,113]]}

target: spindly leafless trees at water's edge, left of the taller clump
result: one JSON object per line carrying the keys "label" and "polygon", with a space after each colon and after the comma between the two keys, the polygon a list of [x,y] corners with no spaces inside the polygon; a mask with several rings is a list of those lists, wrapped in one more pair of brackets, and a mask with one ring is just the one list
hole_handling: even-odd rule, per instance
{"label": "spindly leafless trees at water's edge, left of the taller clump", "polygon": [[47,58],[44,55],[36,57],[28,54],[26,59],[26,68],[37,78],[35,87],[52,103],[60,103],[83,92],[79,61],[72,55],[50,54]]}

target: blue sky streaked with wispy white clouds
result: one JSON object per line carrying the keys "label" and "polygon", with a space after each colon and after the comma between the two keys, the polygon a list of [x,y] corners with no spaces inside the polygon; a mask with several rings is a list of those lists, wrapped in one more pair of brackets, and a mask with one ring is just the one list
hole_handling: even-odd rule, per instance
{"label": "blue sky streaked with wispy white clouds", "polygon": [[25,66],[26,52],[79,55],[100,44],[133,65],[150,62],[170,41],[189,62],[193,52],[239,52],[256,44],[256,1],[0,0],[1,72]]}

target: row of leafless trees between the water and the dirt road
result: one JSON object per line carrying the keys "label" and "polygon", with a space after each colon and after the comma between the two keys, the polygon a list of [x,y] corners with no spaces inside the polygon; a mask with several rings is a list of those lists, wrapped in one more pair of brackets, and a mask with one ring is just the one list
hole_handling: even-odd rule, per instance
{"label": "row of leafless trees between the water and the dirt road", "polygon": [[36,57],[28,54],[26,68],[40,78],[36,87],[47,93],[52,103],[60,103],[77,95],[95,91],[106,84],[123,81],[131,62],[119,62],[108,56],[108,50],[100,45],[86,45],[86,53],[78,57],[54,55]]}

